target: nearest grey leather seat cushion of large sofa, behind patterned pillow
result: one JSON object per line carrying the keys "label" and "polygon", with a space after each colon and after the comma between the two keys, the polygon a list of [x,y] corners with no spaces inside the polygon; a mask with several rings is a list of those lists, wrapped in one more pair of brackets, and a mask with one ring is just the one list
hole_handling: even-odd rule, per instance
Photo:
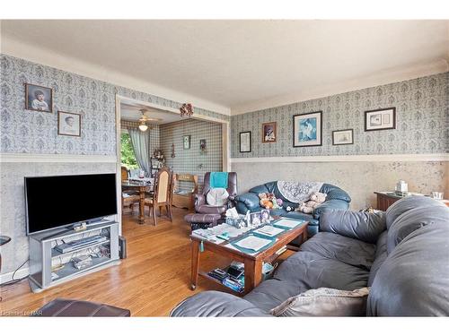
{"label": "nearest grey leather seat cushion of large sofa, behind patterned pillow", "polygon": [[354,290],[366,287],[368,276],[369,272],[362,268],[314,252],[300,251],[281,263],[273,277],[294,284],[296,288]]}

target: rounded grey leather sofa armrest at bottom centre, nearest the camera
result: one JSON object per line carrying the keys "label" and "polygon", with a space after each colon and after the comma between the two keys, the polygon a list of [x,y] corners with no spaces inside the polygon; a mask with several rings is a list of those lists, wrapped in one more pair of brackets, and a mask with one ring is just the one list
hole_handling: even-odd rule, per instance
{"label": "rounded grey leather sofa armrest at bottom centre, nearest the camera", "polygon": [[244,298],[228,293],[207,290],[188,297],[176,306],[172,317],[207,317],[207,316],[272,316]]}

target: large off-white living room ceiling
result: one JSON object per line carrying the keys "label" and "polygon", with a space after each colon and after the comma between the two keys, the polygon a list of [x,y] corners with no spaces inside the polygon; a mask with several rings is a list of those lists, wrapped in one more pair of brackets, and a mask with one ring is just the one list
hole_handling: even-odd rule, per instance
{"label": "large off-white living room ceiling", "polygon": [[2,21],[2,35],[235,110],[449,59],[448,21]]}

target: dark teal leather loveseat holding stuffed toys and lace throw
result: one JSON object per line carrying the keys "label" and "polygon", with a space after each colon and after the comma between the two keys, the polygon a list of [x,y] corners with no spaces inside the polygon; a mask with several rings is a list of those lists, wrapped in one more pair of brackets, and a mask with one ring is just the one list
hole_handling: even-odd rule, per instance
{"label": "dark teal leather loveseat holding stuffed toys and lace throw", "polygon": [[287,206],[295,209],[298,206],[298,203],[288,201],[286,197],[280,193],[277,187],[277,181],[273,181],[264,185],[254,186],[248,193],[235,197],[235,207],[237,211],[242,214],[245,214],[246,211],[261,211],[262,208],[260,207],[259,194],[262,193],[273,193],[277,198],[280,198],[283,201],[281,209],[270,211],[272,215],[309,221],[309,226],[307,228],[309,236],[313,236],[318,232],[320,216],[323,211],[326,209],[347,210],[349,208],[349,202],[351,202],[351,198],[347,192],[340,189],[338,186],[325,183],[321,185],[320,193],[327,194],[326,201],[319,205],[312,214],[299,211],[286,211]]}

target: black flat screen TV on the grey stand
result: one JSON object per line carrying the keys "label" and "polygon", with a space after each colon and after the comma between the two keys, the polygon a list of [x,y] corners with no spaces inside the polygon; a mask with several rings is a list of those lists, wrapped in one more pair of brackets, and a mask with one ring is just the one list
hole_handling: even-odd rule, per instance
{"label": "black flat screen TV on the grey stand", "polygon": [[117,214],[115,174],[25,177],[27,235]]}

